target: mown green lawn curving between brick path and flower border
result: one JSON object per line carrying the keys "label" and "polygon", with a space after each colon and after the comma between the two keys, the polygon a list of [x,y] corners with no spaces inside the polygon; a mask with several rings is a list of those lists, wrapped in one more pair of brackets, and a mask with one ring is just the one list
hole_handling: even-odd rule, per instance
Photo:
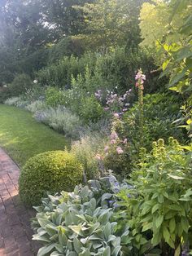
{"label": "mown green lawn curving between brick path and flower border", "polygon": [[31,113],[0,104],[0,147],[19,166],[40,152],[64,149],[69,144],[63,135],[35,121]]}

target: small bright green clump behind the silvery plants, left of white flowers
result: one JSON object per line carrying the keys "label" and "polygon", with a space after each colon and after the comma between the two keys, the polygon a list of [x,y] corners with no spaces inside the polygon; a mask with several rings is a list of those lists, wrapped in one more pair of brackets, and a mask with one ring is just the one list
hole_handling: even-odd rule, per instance
{"label": "small bright green clump behind the silvery plants, left of white flowers", "polygon": [[49,87],[46,89],[46,104],[49,107],[56,108],[64,104],[63,93],[55,88]]}

